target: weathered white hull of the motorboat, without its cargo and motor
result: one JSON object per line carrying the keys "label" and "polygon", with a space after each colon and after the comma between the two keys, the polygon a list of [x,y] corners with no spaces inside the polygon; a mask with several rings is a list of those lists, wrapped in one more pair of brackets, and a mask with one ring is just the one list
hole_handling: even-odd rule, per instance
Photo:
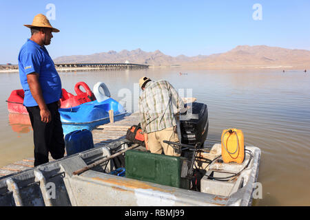
{"label": "weathered white hull of the motorboat, without its cargo and motor", "polygon": [[[217,157],[218,151],[214,148],[218,149],[218,145],[214,144],[206,156]],[[205,176],[200,180],[200,191],[133,179],[126,174],[125,177],[113,175],[118,168],[113,159],[108,158],[115,155],[112,154],[115,151],[122,153],[131,147],[124,140],[112,142],[0,177],[0,206],[251,206],[260,162],[258,147],[246,147],[253,156],[241,173],[239,171],[248,164],[249,157],[240,166],[212,162],[209,172],[239,175],[229,182],[210,180]],[[126,153],[130,151],[137,150]],[[107,161],[74,175],[76,170],[102,158]]]}

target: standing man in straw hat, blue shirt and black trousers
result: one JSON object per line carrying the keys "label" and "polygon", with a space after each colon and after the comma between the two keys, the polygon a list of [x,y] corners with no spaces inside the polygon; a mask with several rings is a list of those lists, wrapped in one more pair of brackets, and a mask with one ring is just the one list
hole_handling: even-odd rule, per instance
{"label": "standing man in straw hat, blue shirt and black trousers", "polygon": [[34,17],[31,38],[19,52],[19,78],[25,91],[25,105],[34,135],[34,166],[48,162],[48,153],[60,159],[65,153],[63,129],[59,107],[61,78],[45,45],[50,45],[52,32],[59,32],[50,25],[43,14]]}

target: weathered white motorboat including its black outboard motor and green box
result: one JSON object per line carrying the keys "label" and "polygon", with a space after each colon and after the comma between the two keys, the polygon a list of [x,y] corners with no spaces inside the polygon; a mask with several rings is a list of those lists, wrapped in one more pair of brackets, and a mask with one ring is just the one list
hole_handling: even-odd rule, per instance
{"label": "weathered white motorboat including its black outboard motor and green box", "polygon": [[260,148],[245,146],[241,164],[223,163],[220,142],[198,135],[207,133],[207,108],[194,105],[174,146],[180,157],[115,140],[0,177],[0,206],[251,206]]}

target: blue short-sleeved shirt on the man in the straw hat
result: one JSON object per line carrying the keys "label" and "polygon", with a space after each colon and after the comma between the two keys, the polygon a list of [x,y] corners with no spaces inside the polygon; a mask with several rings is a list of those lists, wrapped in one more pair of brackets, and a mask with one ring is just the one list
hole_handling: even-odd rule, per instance
{"label": "blue short-sleeved shirt on the man in the straw hat", "polygon": [[28,39],[19,52],[19,78],[25,91],[23,104],[26,107],[37,106],[29,89],[27,75],[39,74],[39,83],[46,104],[56,102],[61,98],[61,78],[55,69],[54,62],[43,46]]}

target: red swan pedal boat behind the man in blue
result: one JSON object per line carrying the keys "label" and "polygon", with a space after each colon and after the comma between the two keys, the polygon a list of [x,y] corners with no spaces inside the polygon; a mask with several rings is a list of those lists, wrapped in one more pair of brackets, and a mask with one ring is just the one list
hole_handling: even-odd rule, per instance
{"label": "red swan pedal boat behind the man in blue", "polygon": [[[85,92],[81,91],[80,87],[85,89]],[[67,90],[62,90],[62,98],[61,101],[61,108],[68,108],[68,107],[75,107],[79,104],[85,102],[91,102],[96,100],[96,97],[90,90],[90,87],[84,82],[76,83],[74,86],[74,91],[76,92],[76,96],[70,94]],[[25,97],[25,92],[23,89],[15,89],[11,92],[8,100],[8,111],[10,113],[21,113],[28,115],[28,111],[23,105],[23,98]]]}

